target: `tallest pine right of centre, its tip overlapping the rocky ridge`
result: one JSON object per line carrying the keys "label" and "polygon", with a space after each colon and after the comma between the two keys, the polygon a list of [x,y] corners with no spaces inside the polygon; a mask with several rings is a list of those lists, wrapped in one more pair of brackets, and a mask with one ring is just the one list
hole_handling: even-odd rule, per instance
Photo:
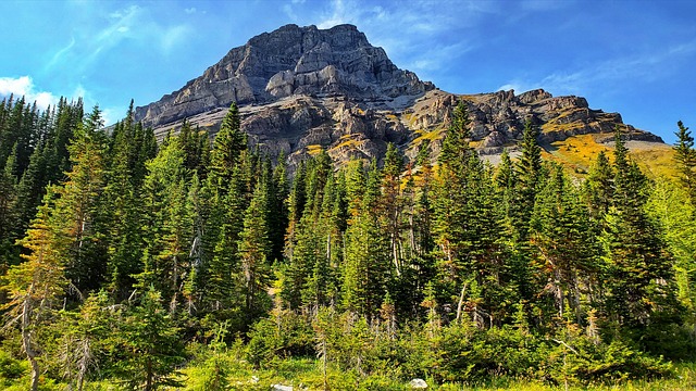
{"label": "tallest pine right of centre, its tip overlapping the rocky ridge", "polygon": [[[502,292],[501,230],[493,195],[493,178],[469,147],[471,123],[463,104],[455,111],[440,155],[434,198],[433,231],[439,245],[442,288],[456,303],[457,320],[465,307],[472,318],[490,325]],[[447,148],[445,148],[447,147]],[[445,293],[445,292],[443,292]]]}

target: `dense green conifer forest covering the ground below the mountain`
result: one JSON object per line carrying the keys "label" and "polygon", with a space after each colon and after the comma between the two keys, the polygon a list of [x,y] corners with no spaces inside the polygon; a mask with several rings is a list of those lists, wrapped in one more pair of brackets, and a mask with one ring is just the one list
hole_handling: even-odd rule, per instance
{"label": "dense green conifer forest covering the ground below the mountain", "polygon": [[676,379],[696,358],[688,128],[679,176],[651,178],[620,127],[579,175],[542,159],[538,124],[497,166],[470,125],[462,101],[435,160],[389,144],[290,173],[234,103],[212,140],[185,122],[158,142],[133,102],[104,128],[79,100],[4,99],[0,388]]}

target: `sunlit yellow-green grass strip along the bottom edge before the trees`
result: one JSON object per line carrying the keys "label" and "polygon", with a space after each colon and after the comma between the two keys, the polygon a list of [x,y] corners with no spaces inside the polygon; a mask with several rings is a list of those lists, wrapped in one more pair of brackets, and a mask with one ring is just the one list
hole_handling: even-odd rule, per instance
{"label": "sunlit yellow-green grass strip along the bottom edge before the trees", "polygon": [[[202,350],[197,357],[181,370],[181,380],[185,391],[207,389],[207,381],[213,373],[213,361],[217,361],[223,368],[225,382],[229,390],[270,390],[274,384],[291,386],[297,390],[323,390],[324,373],[319,360],[312,357],[271,358],[263,368],[254,368],[245,360],[241,345],[233,346],[227,352],[215,354]],[[326,381],[331,390],[410,390],[409,381],[412,377],[393,375],[397,368],[384,368],[378,373],[360,376],[356,370],[340,370],[330,363],[326,370]],[[485,381],[472,383],[437,383],[434,379],[424,379],[428,390],[521,390],[521,391],[658,391],[658,390],[694,390],[696,389],[696,363],[674,364],[674,376],[664,379],[631,380],[617,383],[596,384],[549,384],[540,380],[514,379],[511,377],[493,377]],[[28,384],[28,374],[22,378],[2,382],[4,390],[25,390]],[[40,390],[53,391],[66,389],[65,383],[44,379]],[[109,380],[88,381],[85,390],[124,390],[123,386]],[[166,388],[166,390],[173,390]]]}

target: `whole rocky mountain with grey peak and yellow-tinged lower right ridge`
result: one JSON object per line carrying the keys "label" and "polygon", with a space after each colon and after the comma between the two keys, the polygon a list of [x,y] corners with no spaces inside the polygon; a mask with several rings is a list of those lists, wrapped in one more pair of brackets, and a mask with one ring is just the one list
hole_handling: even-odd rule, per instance
{"label": "whole rocky mountain with grey peak and yellow-tinged lower right ridge", "polygon": [[659,137],[623,124],[620,114],[589,109],[581,97],[552,97],[540,89],[442,91],[399,70],[352,25],[287,25],[253,37],[182,89],[137,108],[136,119],[160,138],[176,133],[184,119],[213,135],[235,101],[251,144],[272,156],[284,151],[291,168],[322,148],[338,163],[380,159],[387,142],[411,159],[423,147],[435,156],[461,99],[474,122],[472,144],[494,161],[504,149],[514,152],[526,121],[540,126],[539,141],[549,153],[554,143],[582,135],[610,142],[617,125],[632,140],[663,146]]}

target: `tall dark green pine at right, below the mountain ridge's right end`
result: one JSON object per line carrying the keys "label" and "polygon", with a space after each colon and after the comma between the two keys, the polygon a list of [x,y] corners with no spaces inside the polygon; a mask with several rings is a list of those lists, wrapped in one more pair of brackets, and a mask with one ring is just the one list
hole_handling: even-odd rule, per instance
{"label": "tall dark green pine at right, below the mountain ridge's right end", "polygon": [[620,324],[645,327],[656,313],[675,308],[672,260],[645,212],[647,178],[630,161],[618,127],[614,140],[616,190],[602,235],[609,272],[606,305]]}

